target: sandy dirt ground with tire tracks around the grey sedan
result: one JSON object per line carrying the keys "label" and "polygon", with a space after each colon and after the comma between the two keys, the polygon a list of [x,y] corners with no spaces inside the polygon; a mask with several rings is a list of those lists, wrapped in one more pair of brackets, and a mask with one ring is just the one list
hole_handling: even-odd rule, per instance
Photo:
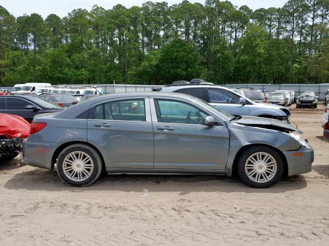
{"label": "sandy dirt ground with tire tracks around the grey sedan", "polygon": [[[317,110],[291,107],[314,170],[258,190],[218,176],[103,176],[0,165],[0,245],[329,245],[329,144]],[[143,189],[148,189],[144,195]]]}

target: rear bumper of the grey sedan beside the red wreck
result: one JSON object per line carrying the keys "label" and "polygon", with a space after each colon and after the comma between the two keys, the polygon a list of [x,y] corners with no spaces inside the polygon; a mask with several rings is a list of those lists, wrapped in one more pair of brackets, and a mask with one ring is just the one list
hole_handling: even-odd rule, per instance
{"label": "rear bumper of the grey sedan beside the red wreck", "polygon": [[51,159],[59,144],[54,142],[23,141],[23,160],[29,166],[52,170]]}

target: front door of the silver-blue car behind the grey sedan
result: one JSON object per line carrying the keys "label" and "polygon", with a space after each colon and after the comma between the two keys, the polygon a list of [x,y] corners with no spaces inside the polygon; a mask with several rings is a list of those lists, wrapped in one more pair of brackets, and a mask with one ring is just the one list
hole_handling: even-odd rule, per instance
{"label": "front door of the silver-blue car behind the grey sedan", "polygon": [[207,101],[218,109],[232,115],[249,115],[249,105],[239,104],[239,95],[217,88],[207,88],[206,92]]}

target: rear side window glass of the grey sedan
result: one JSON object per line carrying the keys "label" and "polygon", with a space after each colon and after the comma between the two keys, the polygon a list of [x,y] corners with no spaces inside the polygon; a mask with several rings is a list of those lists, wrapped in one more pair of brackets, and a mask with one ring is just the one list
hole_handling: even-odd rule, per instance
{"label": "rear side window glass of the grey sedan", "polygon": [[95,119],[146,121],[144,99],[111,101],[95,107]]}

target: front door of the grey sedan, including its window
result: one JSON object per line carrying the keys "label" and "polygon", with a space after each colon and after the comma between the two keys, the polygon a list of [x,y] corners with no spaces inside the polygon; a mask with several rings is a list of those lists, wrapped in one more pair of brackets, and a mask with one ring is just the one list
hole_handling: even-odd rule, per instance
{"label": "front door of the grey sedan, including its window", "polygon": [[229,133],[224,126],[207,127],[209,114],[184,100],[151,100],[154,168],[224,170]]}

